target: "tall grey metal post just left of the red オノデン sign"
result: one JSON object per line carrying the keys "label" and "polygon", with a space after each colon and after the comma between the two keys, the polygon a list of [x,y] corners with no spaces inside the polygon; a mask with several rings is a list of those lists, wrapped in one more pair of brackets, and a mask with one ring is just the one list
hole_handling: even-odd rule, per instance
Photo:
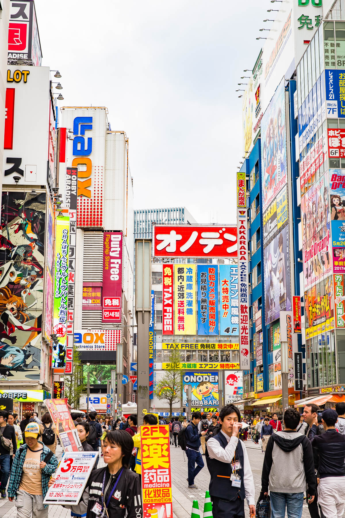
{"label": "tall grey metal post just left of the red \u30aa\u30ce\u30c7\u30f3 sign", "polygon": [[[152,239],[136,239],[136,317],[138,325],[138,423],[149,412],[149,344],[151,313],[151,246]],[[146,412],[143,412],[146,410]]]}

